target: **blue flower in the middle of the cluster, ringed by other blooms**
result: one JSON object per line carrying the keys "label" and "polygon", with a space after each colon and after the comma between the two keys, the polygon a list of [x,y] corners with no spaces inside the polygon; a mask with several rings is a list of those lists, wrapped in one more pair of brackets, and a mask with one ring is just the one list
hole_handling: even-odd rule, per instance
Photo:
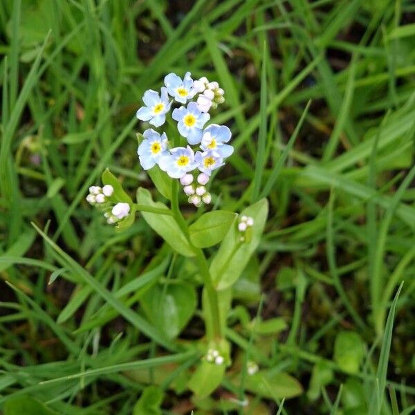
{"label": "blue flower in the middle of the cluster, ringed by other blooms", "polygon": [[172,117],[178,121],[178,132],[187,138],[189,144],[193,145],[201,142],[203,125],[210,119],[210,115],[202,113],[196,102],[189,102],[187,108],[174,109]]}

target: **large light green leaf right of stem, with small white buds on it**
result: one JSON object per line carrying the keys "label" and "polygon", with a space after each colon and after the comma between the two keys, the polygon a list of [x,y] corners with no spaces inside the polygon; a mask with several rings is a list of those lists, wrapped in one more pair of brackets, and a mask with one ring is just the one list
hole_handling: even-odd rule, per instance
{"label": "large light green leaf right of stem, with small white buds on it", "polygon": [[268,216],[268,201],[261,199],[243,210],[241,215],[254,219],[254,225],[248,229],[252,231],[250,241],[241,242],[241,233],[237,226],[231,226],[210,264],[210,274],[218,290],[228,288],[237,281],[252,253],[257,249]]}

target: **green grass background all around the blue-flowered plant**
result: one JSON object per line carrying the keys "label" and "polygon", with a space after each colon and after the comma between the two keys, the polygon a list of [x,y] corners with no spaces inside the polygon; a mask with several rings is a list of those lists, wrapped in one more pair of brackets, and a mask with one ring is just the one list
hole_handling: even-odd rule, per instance
{"label": "green grass background all around the blue-flowered plant", "polygon": [[[147,383],[164,391],[165,414],[226,413],[243,396],[227,378],[203,402],[169,389],[174,376],[157,381],[159,365],[179,362],[178,374],[195,357],[172,344],[160,357],[140,299],[172,277],[198,286],[196,270],[141,216],[116,234],[84,201],[107,166],[131,195],[151,187],[136,109],[166,73],[191,71],[225,89],[212,121],[237,149],[216,203],[270,201],[234,290],[233,356],[248,350],[299,380],[282,414],[410,414],[414,12],[409,0],[0,2],[0,407],[26,394],[61,414],[130,414]],[[257,313],[288,329],[252,340]],[[182,337],[202,335],[196,311]],[[253,401],[252,414],[279,407]]]}

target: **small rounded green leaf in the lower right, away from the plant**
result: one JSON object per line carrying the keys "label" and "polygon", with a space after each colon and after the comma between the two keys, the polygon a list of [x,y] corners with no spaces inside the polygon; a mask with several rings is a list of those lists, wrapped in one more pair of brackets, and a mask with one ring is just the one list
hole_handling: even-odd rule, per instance
{"label": "small rounded green leaf in the lower right, away from the plant", "polygon": [[359,371],[360,363],[365,356],[365,349],[362,338],[354,331],[341,331],[334,342],[334,360],[339,367],[356,374]]}

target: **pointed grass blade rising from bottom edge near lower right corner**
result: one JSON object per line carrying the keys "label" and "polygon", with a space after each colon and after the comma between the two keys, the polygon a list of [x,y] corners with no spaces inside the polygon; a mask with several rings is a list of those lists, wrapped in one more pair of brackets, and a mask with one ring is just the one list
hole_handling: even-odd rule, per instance
{"label": "pointed grass blade rising from bottom edge near lower right corner", "polygon": [[[385,394],[385,385],[387,378],[387,363],[389,360],[389,352],[391,350],[392,331],[394,329],[394,318],[396,312],[396,304],[400,291],[402,290],[403,282],[400,283],[398,292],[395,295],[394,302],[391,304],[389,315],[385,326],[385,333],[383,334],[382,348],[380,349],[380,357],[378,362],[378,370],[376,371],[376,380],[379,387],[374,389],[371,398],[368,415],[379,415],[382,408],[382,400]],[[377,389],[377,390],[376,390]]]}

